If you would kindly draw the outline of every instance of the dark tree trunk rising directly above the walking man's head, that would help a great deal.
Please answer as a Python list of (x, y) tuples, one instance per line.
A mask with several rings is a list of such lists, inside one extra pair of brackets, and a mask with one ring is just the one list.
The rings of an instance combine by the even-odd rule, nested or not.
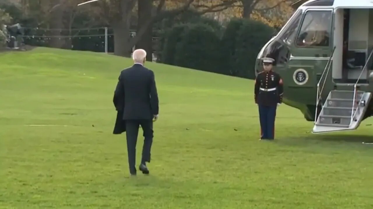
[[(137, 31), (146, 25), (151, 16), (153, 0), (138, 1), (138, 21)], [(153, 61), (153, 24), (149, 24), (146, 32), (141, 36), (136, 44), (136, 49), (144, 49), (147, 52), (146, 60)]]

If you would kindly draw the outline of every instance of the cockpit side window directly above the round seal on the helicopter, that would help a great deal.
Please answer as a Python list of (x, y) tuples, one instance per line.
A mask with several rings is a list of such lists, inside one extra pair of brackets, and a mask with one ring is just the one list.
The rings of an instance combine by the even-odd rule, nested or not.
[(329, 46), (331, 28), (331, 11), (308, 11), (296, 43), (298, 46)]

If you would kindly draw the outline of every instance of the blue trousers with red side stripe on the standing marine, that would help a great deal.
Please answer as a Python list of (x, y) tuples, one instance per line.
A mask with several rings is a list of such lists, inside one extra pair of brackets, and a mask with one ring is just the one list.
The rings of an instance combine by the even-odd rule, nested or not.
[(275, 119), (277, 105), (259, 106), (260, 134), (261, 139), (275, 138)]

